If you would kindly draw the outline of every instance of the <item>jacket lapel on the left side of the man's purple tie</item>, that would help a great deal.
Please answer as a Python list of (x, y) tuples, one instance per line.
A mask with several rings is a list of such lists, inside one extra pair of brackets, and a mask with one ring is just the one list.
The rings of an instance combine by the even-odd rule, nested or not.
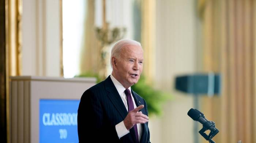
[(104, 81), (105, 82), (105, 90), (109, 92), (107, 95), (110, 101), (113, 103), (116, 110), (122, 116), (123, 119), (127, 116), (128, 112), (124, 106), (123, 100), (121, 99), (120, 95), (118, 94), (114, 83), (112, 82), (110, 76)]

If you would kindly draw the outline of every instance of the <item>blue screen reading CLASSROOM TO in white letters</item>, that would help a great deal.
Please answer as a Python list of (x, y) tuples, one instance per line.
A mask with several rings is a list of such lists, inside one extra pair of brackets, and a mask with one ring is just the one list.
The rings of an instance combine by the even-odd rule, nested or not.
[(39, 100), (40, 143), (78, 143), (79, 102), (80, 100)]

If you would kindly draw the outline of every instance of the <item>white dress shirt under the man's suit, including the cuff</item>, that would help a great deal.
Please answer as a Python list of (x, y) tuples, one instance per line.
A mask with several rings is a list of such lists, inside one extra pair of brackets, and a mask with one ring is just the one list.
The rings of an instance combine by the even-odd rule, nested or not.
[[(120, 82), (118, 82), (118, 80), (116, 80), (116, 78), (114, 78), (114, 76), (112, 74), (110, 75), (110, 78), (111, 78), (112, 82), (114, 83), (114, 86), (116, 87), (116, 89), (118, 91), (118, 94), (120, 95), (121, 99), (123, 100), (126, 110), (128, 111), (127, 96), (124, 93), (124, 91), (125, 91), (124, 86)], [(131, 91), (131, 87), (129, 87), (128, 89)], [(133, 101), (134, 108), (136, 108), (137, 106), (135, 104), (133, 96), (132, 96), (132, 101)], [(139, 141), (140, 141), (141, 134), (142, 134), (142, 125), (140, 123), (138, 123), (137, 128), (138, 128), (138, 136), (139, 136)], [(116, 132), (117, 132), (119, 139), (122, 136), (129, 133), (129, 131), (126, 129), (126, 127), (124, 125), (124, 121), (116, 124)]]

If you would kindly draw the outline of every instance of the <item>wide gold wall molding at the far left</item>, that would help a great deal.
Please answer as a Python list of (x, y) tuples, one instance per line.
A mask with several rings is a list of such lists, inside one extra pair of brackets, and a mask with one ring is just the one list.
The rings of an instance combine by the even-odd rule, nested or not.
[(10, 141), (9, 123), (9, 76), (18, 76), (22, 73), (21, 48), (22, 48), (22, 0), (5, 0), (5, 31), (6, 31), (6, 118), (7, 118), (7, 143)]

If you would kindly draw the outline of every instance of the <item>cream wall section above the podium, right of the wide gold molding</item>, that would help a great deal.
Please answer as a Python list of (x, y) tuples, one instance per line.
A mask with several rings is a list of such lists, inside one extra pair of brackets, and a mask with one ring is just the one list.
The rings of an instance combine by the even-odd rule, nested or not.
[(60, 76), (60, 0), (23, 0), (22, 75)]

